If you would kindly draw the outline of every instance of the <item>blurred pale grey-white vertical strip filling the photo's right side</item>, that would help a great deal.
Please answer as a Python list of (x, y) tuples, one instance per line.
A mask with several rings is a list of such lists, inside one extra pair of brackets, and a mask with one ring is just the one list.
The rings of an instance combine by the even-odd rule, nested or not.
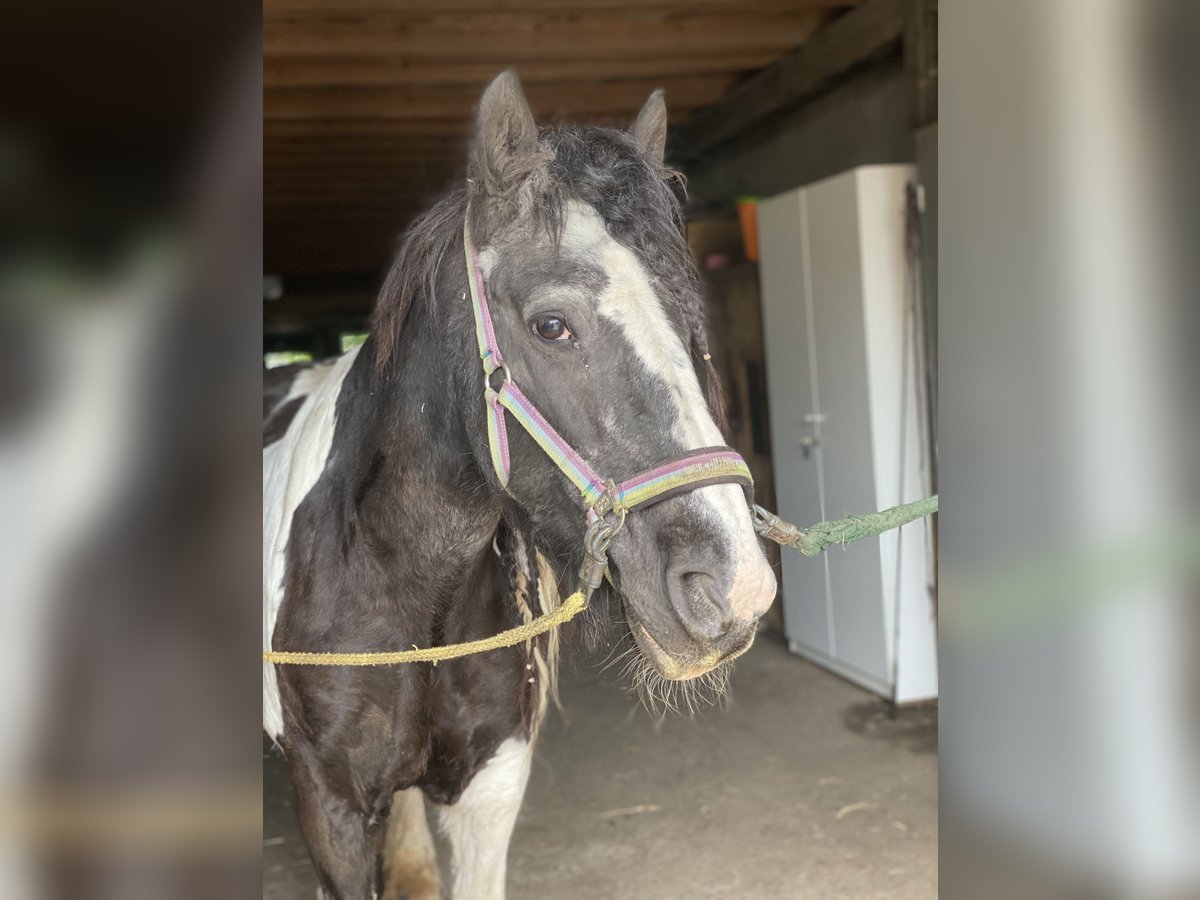
[(1196, 4), (946, 4), (942, 889), (1200, 890)]

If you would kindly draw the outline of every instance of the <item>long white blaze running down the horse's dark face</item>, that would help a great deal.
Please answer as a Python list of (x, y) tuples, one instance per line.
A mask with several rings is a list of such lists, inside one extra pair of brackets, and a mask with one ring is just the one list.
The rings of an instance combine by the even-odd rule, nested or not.
[[(725, 444), (688, 349), (654, 292), (654, 280), (634, 252), (608, 234), (592, 206), (578, 202), (569, 205), (563, 247), (596, 259), (608, 276), (598, 312), (622, 329), (642, 364), (671, 391), (674, 438), (688, 450)], [(691, 496), (708, 506), (709, 517), (733, 544), (736, 570), (730, 600), (734, 613), (742, 619), (762, 614), (774, 599), (775, 576), (758, 546), (742, 488), (710, 485)]]

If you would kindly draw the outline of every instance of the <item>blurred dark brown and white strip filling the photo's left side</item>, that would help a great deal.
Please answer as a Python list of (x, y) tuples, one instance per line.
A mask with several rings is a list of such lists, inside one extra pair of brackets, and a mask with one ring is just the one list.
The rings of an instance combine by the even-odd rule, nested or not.
[(7, 8), (0, 893), (259, 895), (257, 8)]

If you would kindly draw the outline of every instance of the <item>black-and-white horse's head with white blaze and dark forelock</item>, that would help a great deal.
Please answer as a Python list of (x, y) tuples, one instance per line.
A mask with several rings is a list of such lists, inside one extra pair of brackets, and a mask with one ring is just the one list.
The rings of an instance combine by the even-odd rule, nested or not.
[[(578, 485), (556, 464), (553, 442), (539, 443), (511, 419), (498, 470), (494, 430), (505, 427), (505, 413), (481, 400), (485, 388), (494, 400), (503, 382), (520, 385), (568, 452), (614, 482), (724, 444), (679, 176), (664, 164), (665, 143), (660, 92), (629, 131), (539, 130), (511, 73), (487, 88), (479, 108), (461, 270), (476, 270), (503, 366), (487, 376), (480, 368), (475, 350), (485, 362), (490, 350), (484, 337), (476, 348), (463, 282), (451, 304), (439, 301), (446, 378), (505, 516), (550, 559), (572, 566), (565, 577), (582, 558), (587, 527)], [(672, 682), (748, 649), (775, 595), (736, 484), (689, 486), (634, 509), (608, 559), (641, 659)]]

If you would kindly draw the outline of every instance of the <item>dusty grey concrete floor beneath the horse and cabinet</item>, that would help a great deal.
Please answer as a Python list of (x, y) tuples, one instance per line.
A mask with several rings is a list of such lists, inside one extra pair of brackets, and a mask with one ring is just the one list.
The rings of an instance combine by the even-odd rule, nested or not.
[[(937, 713), (760, 635), (727, 709), (655, 724), (564, 665), (509, 854), (510, 900), (937, 896)], [(286, 762), (264, 758), (266, 900), (314, 896)], [(443, 854), (445, 856), (445, 854)]]

